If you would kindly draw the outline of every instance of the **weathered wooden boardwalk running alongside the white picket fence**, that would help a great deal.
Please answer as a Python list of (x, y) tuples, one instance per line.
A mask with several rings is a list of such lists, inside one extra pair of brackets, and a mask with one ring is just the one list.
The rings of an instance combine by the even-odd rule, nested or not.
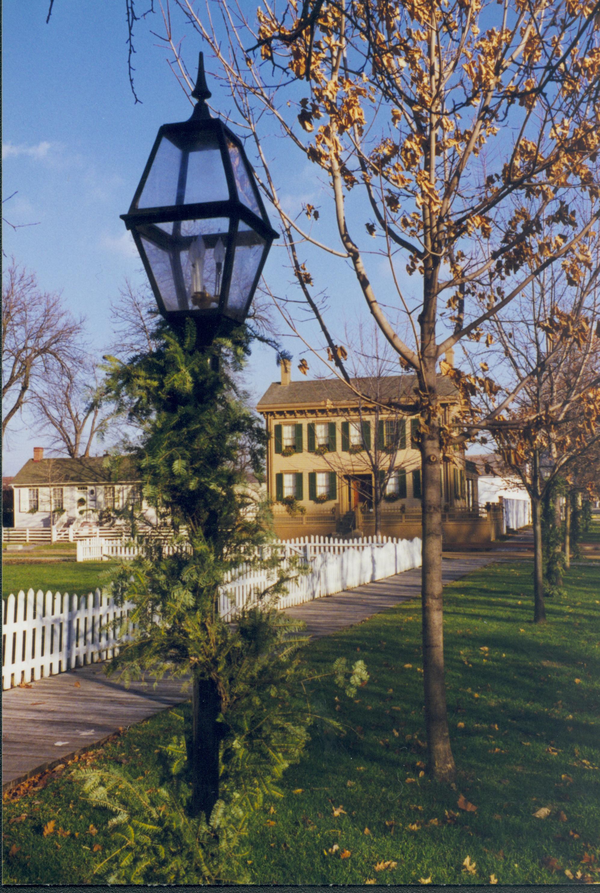
[[(444, 582), (458, 580), (498, 558), (504, 556), (449, 555), (443, 561)], [(421, 568), (415, 568), (296, 605), (286, 613), (304, 620), (307, 632), (317, 638), (420, 595)], [(181, 684), (181, 680), (162, 680), (154, 689), (152, 682), (146, 686), (133, 682), (125, 689), (123, 683), (104, 675), (102, 663), (92, 663), (33, 682), (30, 689), (4, 691), (3, 789), (97, 746), (120, 727), (187, 700)]]

